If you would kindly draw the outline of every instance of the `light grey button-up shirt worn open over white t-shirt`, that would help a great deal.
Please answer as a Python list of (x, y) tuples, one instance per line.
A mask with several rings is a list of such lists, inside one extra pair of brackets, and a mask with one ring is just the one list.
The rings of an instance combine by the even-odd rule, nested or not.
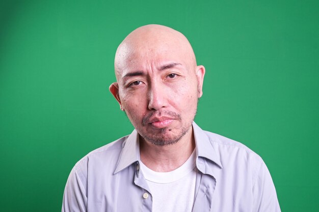
[[(257, 154), (194, 122), (193, 130), (198, 169), (194, 212), (280, 211), (270, 173)], [(152, 211), (152, 194), (139, 163), (136, 130), (89, 153), (69, 175), (62, 212)]]

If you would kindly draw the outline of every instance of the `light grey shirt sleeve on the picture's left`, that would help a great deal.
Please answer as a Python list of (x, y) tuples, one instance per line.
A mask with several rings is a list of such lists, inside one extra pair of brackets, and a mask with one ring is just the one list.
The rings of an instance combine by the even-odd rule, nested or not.
[(62, 203), (62, 212), (86, 212), (87, 195), (82, 180), (75, 168), (67, 180)]

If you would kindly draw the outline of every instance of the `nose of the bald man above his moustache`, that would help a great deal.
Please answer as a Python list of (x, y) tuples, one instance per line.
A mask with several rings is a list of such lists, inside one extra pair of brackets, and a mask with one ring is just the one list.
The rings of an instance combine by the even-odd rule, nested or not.
[(148, 90), (148, 109), (159, 110), (167, 106), (167, 94), (160, 83), (152, 83)]

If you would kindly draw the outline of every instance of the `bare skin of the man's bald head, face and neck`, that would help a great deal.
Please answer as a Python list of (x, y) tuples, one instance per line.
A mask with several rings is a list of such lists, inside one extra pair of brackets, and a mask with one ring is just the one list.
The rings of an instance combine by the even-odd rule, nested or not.
[(187, 38), (172, 28), (142, 26), (119, 45), (110, 92), (140, 134), (141, 160), (150, 169), (172, 171), (192, 154), (204, 74)]

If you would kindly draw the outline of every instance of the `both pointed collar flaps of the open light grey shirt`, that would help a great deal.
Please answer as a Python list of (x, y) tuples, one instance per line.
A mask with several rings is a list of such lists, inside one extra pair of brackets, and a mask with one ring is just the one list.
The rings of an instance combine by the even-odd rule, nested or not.
[[(195, 122), (193, 122), (192, 126), (197, 149), (197, 158), (201, 157), (208, 159), (222, 168), (219, 155), (217, 155), (214, 147), (211, 145), (206, 133), (198, 127)], [(122, 144), (122, 152), (114, 174), (137, 161), (140, 161), (139, 134), (136, 130), (134, 130)]]

